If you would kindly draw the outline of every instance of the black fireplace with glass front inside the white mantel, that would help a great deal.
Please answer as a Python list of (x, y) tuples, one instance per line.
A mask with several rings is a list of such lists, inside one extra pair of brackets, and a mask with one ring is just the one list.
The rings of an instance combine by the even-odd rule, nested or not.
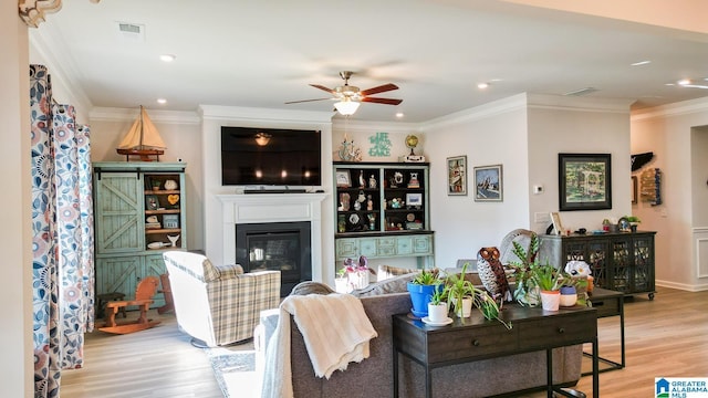
[(280, 271), (280, 296), (312, 280), (310, 221), (236, 226), (236, 263), (246, 272)]

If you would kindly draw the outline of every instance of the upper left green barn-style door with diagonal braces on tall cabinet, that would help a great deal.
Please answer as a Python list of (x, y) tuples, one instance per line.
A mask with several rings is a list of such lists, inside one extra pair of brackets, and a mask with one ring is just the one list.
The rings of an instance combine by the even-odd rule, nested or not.
[(103, 172), (94, 178), (96, 253), (145, 248), (143, 181), (136, 172)]

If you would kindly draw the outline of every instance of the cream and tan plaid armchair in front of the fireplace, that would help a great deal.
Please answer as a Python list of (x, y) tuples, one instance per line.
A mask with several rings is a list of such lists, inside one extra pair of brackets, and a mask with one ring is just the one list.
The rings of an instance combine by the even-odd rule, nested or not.
[[(179, 328), (209, 347), (253, 337), (260, 312), (280, 304), (280, 271), (243, 273), (185, 251), (163, 253)], [(196, 339), (196, 342), (195, 342)]]

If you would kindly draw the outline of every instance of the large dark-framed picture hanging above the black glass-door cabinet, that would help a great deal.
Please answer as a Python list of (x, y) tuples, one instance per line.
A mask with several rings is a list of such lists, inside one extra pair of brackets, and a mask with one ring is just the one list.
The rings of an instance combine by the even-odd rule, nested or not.
[(559, 208), (612, 209), (610, 154), (558, 154)]

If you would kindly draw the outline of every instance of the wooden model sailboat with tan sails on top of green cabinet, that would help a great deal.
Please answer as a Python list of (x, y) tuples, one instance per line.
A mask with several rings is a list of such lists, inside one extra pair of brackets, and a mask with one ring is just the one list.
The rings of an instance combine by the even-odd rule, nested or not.
[(165, 153), (165, 143), (157, 128), (147, 116), (145, 107), (140, 105), (140, 114), (116, 148), (116, 151), (125, 155), (125, 160), (128, 160), (129, 156), (139, 156), (143, 161), (152, 161), (150, 156), (155, 156), (159, 161), (159, 156)]

